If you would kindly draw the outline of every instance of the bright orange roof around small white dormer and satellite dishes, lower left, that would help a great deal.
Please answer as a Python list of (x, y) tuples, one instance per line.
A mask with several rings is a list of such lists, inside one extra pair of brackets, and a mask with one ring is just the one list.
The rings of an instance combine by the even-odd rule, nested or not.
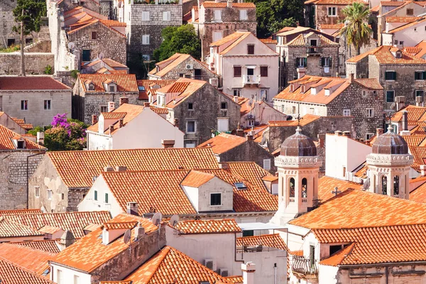
[[(145, 229), (146, 234), (158, 229), (158, 227), (148, 219), (130, 214), (119, 214), (114, 217), (111, 222), (139, 222)], [(99, 238), (101, 234), (102, 229), (99, 228), (83, 236), (82, 239), (75, 244), (68, 246), (67, 249), (61, 251), (52, 258), (52, 262), (91, 273), (111, 258), (114, 258), (114, 256), (125, 250), (129, 250), (129, 245), (124, 243), (123, 236), (119, 236), (119, 238), (115, 239), (110, 244), (104, 245), (102, 244), (102, 238)], [(132, 229), (131, 239), (133, 239), (134, 236), (135, 229)], [(87, 251), (90, 253), (87, 253)]]

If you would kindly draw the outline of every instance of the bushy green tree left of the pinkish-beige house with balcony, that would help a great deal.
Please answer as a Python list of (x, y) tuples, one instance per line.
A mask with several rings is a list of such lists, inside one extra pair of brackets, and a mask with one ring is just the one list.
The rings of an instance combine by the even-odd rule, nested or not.
[(153, 53), (157, 62), (170, 58), (175, 53), (190, 54), (200, 59), (201, 41), (195, 33), (194, 26), (169, 26), (163, 28), (161, 35), (164, 38), (163, 43)]

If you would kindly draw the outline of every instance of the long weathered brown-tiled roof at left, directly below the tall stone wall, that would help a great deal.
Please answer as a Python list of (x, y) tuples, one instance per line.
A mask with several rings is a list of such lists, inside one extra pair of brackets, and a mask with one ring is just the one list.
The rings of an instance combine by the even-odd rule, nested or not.
[(71, 231), (75, 238), (84, 236), (83, 228), (87, 224), (103, 224), (111, 219), (111, 215), (107, 211), (14, 214), (4, 215), (3, 217), (35, 230), (46, 225), (59, 227), (64, 231)]

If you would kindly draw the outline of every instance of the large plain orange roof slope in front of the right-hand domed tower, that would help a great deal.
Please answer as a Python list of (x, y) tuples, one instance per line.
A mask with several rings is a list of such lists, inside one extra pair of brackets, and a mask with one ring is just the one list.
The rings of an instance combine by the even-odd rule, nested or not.
[(426, 204), (349, 189), (289, 223), (308, 229), (426, 224)]

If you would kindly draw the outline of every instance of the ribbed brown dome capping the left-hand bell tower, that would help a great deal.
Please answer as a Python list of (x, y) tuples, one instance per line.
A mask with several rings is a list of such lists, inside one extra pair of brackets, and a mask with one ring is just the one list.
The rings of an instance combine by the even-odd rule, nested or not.
[(308, 136), (300, 133), (302, 129), (297, 127), (296, 133), (285, 139), (281, 144), (280, 155), (295, 157), (312, 157), (317, 155), (317, 147), (314, 141)]

